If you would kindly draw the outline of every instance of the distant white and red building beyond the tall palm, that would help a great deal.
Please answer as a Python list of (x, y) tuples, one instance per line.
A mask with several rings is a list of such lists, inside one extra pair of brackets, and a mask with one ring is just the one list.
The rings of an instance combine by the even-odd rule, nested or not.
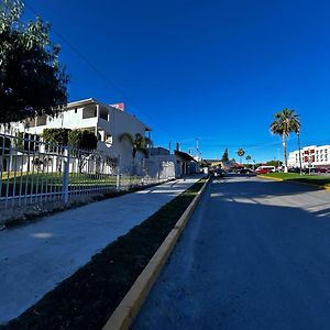
[[(330, 145), (309, 145), (300, 150), (301, 167), (330, 168)], [(299, 151), (289, 153), (288, 167), (300, 167)]]

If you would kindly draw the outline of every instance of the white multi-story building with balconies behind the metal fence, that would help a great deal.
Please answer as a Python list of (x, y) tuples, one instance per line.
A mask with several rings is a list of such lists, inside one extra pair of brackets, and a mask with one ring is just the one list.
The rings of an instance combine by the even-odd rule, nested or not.
[[(80, 129), (89, 130), (98, 138), (97, 150), (112, 160), (117, 160), (121, 166), (132, 166), (132, 145), (123, 140), (122, 133), (136, 133), (151, 139), (151, 129), (133, 114), (124, 111), (122, 103), (105, 105), (96, 99), (86, 99), (68, 103), (56, 117), (41, 116), (21, 122), (11, 123), (4, 133), (15, 135), (18, 132), (42, 135), (44, 129)], [(2, 128), (3, 131), (4, 128)], [(18, 158), (19, 154), (16, 155)], [(142, 155), (136, 155), (139, 157)], [(11, 168), (14, 163), (10, 162)]]

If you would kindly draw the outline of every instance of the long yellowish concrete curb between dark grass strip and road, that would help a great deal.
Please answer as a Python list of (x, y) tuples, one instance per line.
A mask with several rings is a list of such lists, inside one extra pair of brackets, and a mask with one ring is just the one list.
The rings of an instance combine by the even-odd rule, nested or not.
[(209, 180), (210, 178), (207, 179), (205, 185), (198, 191), (197, 196), (176, 222), (174, 229), (169, 232), (165, 241), (150, 260), (128, 294), (116, 308), (102, 330), (124, 330), (130, 328), (144, 300), (146, 299), (153, 284), (157, 279), (158, 274), (163, 270), (168, 256), (170, 255), (170, 252), (173, 251), (178, 238), (184, 231), (190, 216), (197, 207), (197, 204), (199, 202)]

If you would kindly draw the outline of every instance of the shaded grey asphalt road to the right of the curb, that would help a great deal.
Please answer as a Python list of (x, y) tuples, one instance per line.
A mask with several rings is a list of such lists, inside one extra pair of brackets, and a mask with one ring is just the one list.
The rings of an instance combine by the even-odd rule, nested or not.
[(330, 329), (330, 193), (215, 179), (133, 329)]

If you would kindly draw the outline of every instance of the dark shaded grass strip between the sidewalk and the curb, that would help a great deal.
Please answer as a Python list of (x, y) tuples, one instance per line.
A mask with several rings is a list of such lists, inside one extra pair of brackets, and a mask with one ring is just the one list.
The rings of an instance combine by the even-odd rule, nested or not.
[(100, 330), (201, 189), (196, 183), (0, 329)]

